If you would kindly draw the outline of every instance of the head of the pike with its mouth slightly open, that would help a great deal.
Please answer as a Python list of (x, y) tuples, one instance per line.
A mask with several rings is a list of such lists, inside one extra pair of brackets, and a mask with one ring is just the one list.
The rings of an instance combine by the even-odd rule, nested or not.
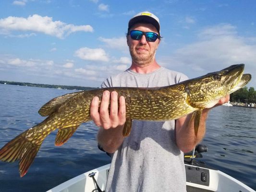
[(192, 79), (185, 87), (187, 103), (194, 108), (211, 108), (219, 99), (242, 88), (251, 80), (244, 73), (244, 64), (232, 65)]

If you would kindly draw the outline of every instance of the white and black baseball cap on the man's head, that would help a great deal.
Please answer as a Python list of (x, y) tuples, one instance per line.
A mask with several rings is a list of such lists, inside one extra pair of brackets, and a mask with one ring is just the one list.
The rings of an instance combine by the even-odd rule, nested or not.
[(134, 24), (140, 23), (140, 22), (146, 22), (146, 23), (153, 24), (157, 28), (158, 33), (160, 35), (159, 19), (156, 15), (154, 15), (151, 12), (139, 12), (138, 14), (134, 15), (134, 17), (132, 19), (130, 19), (130, 21), (128, 23), (128, 31)]

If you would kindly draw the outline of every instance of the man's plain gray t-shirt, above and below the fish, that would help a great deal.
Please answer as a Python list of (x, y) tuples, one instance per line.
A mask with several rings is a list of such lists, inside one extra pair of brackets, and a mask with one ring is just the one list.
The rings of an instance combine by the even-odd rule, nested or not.
[[(102, 87), (160, 87), (187, 80), (160, 67), (151, 73), (126, 70)], [(106, 192), (186, 192), (183, 152), (175, 142), (175, 121), (133, 120), (131, 134), (112, 156)]]

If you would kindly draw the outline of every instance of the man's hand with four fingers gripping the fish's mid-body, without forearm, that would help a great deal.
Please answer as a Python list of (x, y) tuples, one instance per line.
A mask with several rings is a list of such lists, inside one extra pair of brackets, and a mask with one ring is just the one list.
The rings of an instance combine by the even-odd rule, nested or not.
[[(110, 105), (110, 111), (109, 111)], [(110, 128), (116, 128), (118, 126), (123, 126), (125, 123), (125, 99), (123, 96), (119, 98), (119, 108), (118, 108), (118, 94), (113, 91), (104, 91), (102, 99), (99, 106), (99, 98), (96, 96), (93, 98), (90, 107), (90, 115), (92, 120), (97, 126), (101, 126), (108, 130)]]

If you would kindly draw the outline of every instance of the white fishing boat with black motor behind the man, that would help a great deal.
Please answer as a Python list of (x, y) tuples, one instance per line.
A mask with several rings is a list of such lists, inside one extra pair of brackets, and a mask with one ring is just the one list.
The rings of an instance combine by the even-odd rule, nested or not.
[[(187, 192), (256, 192), (230, 175), (196, 160), (206, 151), (207, 147), (199, 144), (193, 152), (184, 154)], [(87, 171), (47, 192), (104, 192), (109, 169), (110, 164)]]

